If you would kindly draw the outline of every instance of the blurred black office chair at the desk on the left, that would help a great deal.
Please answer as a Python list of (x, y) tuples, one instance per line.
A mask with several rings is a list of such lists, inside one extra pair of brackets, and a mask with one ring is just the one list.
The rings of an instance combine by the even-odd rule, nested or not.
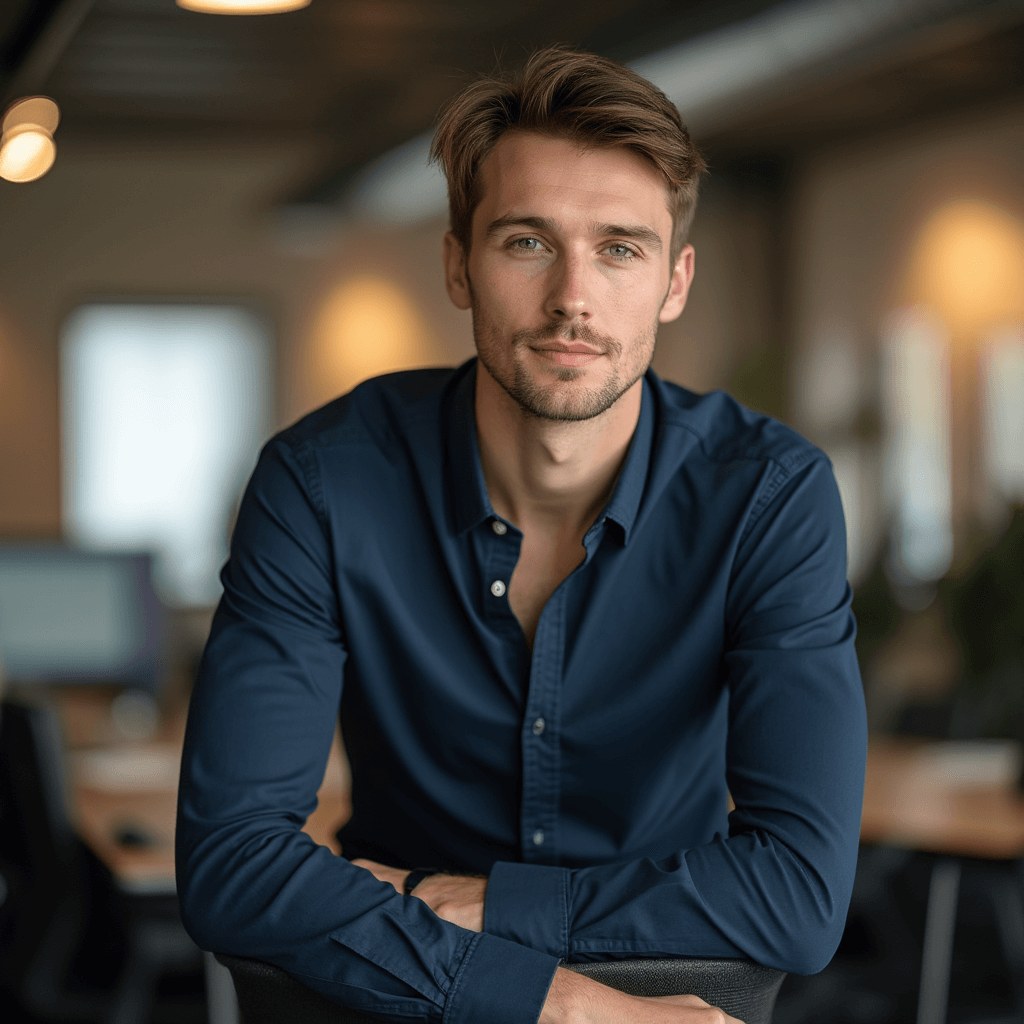
[[(63, 742), (53, 711), (0, 707), (0, 858), (19, 874), (6, 914), (0, 973), (22, 1007), (42, 1020), (150, 1018), (159, 975), (202, 969), (173, 896), (118, 891), (75, 834), (65, 791)], [(74, 967), (97, 916), (110, 914), (101, 959), (123, 959), (106, 990), (76, 983)], [(120, 920), (119, 920), (120, 919)], [(125, 953), (127, 947), (127, 955)], [(97, 950), (86, 949), (95, 954)]]

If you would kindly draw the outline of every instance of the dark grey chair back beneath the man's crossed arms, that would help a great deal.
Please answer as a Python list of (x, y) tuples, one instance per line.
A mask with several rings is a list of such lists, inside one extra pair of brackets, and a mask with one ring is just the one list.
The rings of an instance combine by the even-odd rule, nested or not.
[[(296, 981), (281, 968), (243, 956), (216, 954), (231, 972), (241, 1024), (380, 1024)], [(631, 995), (690, 993), (743, 1024), (770, 1024), (785, 974), (740, 959), (634, 959), (562, 964)]]

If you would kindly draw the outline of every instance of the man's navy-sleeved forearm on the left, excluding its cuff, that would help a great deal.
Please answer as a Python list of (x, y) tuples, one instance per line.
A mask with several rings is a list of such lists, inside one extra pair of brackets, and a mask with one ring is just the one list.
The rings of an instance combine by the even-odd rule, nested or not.
[[(421, 1020), (440, 1012), (442, 979), (458, 973), (467, 933), (317, 847), (294, 822), (222, 825), (199, 842), (187, 809), (181, 822), (181, 913), (201, 947), (275, 964), (367, 1012)], [(385, 950), (387, 962), (375, 962)]]

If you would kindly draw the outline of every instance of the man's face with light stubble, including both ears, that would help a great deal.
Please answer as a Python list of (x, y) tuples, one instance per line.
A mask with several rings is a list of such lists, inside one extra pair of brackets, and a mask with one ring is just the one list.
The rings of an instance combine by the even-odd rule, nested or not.
[(473, 310), (480, 362), (534, 416), (598, 416), (686, 301), (693, 250), (670, 266), (665, 181), (629, 150), (525, 132), (503, 136), (480, 173), (469, 258), (445, 238), (449, 294)]

